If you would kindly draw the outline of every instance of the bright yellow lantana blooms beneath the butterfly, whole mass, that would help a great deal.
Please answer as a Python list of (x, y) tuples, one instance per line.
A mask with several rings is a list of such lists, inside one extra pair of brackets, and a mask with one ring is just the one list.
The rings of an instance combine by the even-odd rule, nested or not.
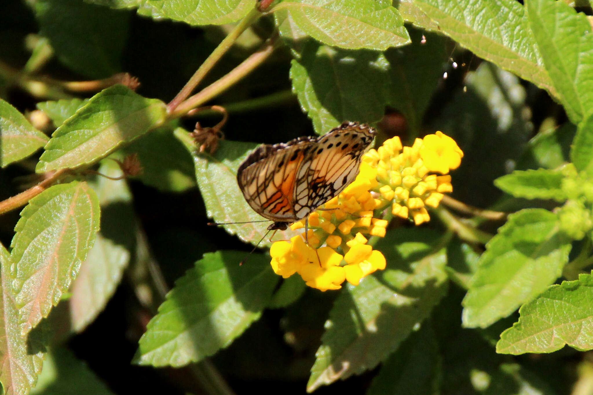
[[(411, 147), (402, 147), (394, 137), (369, 150), (356, 179), (309, 215), (306, 237), (303, 233), (272, 244), (274, 272), (283, 278), (299, 273), (308, 286), (326, 291), (341, 288), (344, 281), (358, 285), (385, 269), (385, 257), (363, 234), (384, 237), (388, 221), (379, 217), (390, 204), (393, 215), (416, 225), (429, 221), (426, 206), (436, 208), (443, 193), (451, 192), (451, 176), (445, 174), (457, 168), (462, 157), (457, 143), (441, 132), (416, 139)], [(291, 228), (304, 226), (303, 219)]]

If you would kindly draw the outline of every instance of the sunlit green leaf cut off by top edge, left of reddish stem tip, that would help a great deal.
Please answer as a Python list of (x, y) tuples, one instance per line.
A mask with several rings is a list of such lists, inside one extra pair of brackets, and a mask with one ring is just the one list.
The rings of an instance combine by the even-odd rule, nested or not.
[(256, 0), (146, 0), (140, 15), (169, 18), (190, 25), (222, 25), (240, 20), (256, 5)]

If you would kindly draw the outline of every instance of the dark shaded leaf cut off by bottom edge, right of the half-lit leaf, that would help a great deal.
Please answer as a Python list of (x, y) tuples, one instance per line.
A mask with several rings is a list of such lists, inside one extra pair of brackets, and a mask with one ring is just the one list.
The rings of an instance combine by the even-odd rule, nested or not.
[(438, 393), (440, 374), (441, 355), (434, 330), (423, 324), (383, 362), (366, 395), (433, 395)]

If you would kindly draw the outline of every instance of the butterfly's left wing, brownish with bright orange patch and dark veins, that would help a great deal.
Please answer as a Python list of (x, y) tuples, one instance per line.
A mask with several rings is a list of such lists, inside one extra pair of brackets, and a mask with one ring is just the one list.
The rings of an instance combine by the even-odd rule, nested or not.
[(294, 211), (298, 169), (315, 138), (298, 138), (286, 144), (262, 145), (237, 171), (237, 183), (247, 203), (260, 215), (275, 222), (297, 221)]

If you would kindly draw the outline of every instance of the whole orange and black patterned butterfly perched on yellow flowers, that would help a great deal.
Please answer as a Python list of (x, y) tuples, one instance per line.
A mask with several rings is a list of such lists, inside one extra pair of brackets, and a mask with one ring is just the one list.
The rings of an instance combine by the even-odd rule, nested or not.
[(376, 134), (344, 122), (323, 136), (260, 145), (239, 166), (237, 183), (251, 208), (274, 221), (268, 231), (286, 230), (354, 181)]

